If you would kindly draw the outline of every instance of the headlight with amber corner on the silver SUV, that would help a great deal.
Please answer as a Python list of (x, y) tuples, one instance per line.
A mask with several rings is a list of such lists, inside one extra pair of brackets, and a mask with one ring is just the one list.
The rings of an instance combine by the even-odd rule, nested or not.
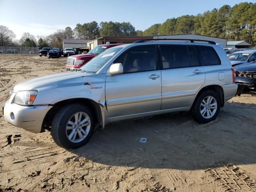
[(32, 105), (34, 102), (38, 91), (31, 90), (31, 91), (18, 91), (14, 98), (14, 103), (19, 105)]

